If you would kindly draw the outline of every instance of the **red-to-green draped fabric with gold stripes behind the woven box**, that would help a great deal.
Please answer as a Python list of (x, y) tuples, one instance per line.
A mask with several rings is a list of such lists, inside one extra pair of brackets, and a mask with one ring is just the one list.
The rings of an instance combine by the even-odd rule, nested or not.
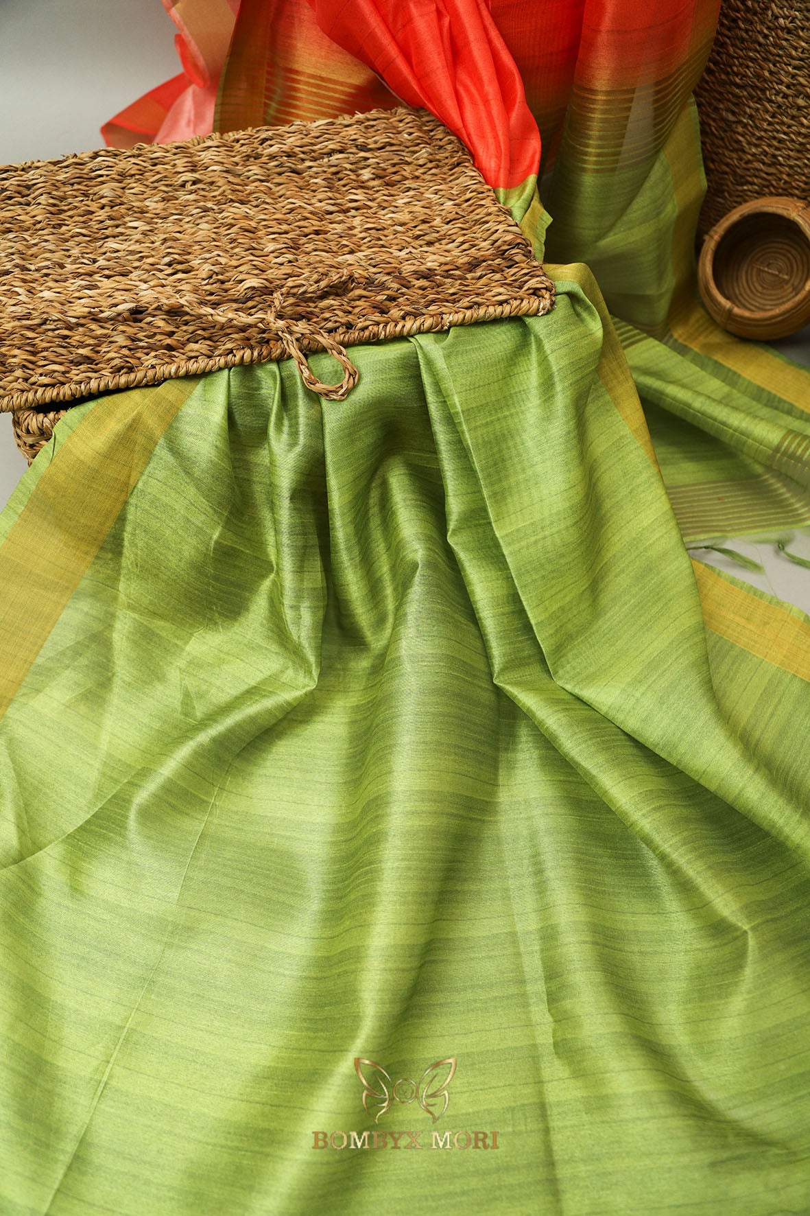
[(809, 373), (724, 333), (697, 298), (705, 184), (691, 92), (718, 0), (186, 0), (186, 26), (167, 7), (182, 62), (201, 58), (202, 28), (212, 71), (178, 78), (187, 88), (168, 114), (158, 95), (175, 81), (124, 125), (181, 139), (398, 98), (426, 106), (467, 142), (541, 255), (594, 272), (685, 539), (810, 523), (806, 457), (794, 457), (810, 438)]

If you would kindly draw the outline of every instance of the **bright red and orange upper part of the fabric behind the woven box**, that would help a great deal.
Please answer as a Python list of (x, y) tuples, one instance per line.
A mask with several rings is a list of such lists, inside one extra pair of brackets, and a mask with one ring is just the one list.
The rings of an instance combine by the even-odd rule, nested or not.
[[(719, 0), (164, 0), (184, 73), (103, 129), (185, 139), (424, 106), (495, 187), (561, 146), (611, 163), (640, 94), (660, 146), (698, 78)], [(220, 64), (224, 63), (224, 67)], [(201, 66), (202, 64), (202, 66)], [(541, 143), (542, 140), (542, 143)], [(601, 148), (601, 150), (600, 150)]]

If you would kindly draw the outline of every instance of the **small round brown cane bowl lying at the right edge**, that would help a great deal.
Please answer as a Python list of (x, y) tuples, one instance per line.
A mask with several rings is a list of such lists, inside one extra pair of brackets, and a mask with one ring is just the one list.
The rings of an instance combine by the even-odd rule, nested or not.
[(784, 338), (810, 321), (810, 206), (759, 198), (711, 229), (698, 260), (703, 303), (742, 338)]

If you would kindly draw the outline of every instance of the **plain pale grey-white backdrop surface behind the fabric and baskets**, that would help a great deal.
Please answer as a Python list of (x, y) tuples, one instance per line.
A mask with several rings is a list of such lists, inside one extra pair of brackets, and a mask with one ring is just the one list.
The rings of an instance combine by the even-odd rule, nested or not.
[[(0, 163), (101, 147), (103, 122), (180, 71), (174, 33), (161, 0), (0, 0)], [(810, 327), (775, 345), (810, 365)], [(27, 468), (11, 417), (0, 413), (0, 507)], [(694, 556), (810, 612), (810, 570), (771, 544), (722, 544), (765, 573), (719, 553)], [(788, 547), (810, 558), (810, 531)]]

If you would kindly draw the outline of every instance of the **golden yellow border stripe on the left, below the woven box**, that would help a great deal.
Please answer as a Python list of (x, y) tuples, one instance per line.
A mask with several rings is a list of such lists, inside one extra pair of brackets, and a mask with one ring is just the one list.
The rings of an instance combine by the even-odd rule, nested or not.
[(102, 398), (40, 475), (0, 546), (0, 717), (198, 383)]

